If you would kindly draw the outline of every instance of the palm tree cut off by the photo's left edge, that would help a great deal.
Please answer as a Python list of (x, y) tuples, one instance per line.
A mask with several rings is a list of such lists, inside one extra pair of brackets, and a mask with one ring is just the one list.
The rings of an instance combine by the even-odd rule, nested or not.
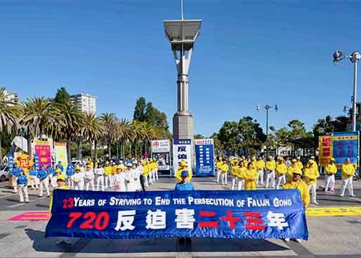
[[(17, 128), (18, 119), (22, 115), (22, 108), (17, 105), (10, 94), (6, 93), (5, 88), (0, 88), (0, 132), (7, 130), (8, 133)], [(0, 138), (0, 163), (3, 160), (1, 152), (1, 138)]]

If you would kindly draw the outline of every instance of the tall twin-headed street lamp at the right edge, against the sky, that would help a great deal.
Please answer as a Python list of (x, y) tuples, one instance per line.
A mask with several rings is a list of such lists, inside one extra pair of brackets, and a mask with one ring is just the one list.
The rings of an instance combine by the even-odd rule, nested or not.
[(345, 57), (350, 59), (353, 63), (353, 98), (352, 98), (352, 106), (353, 106), (353, 117), (352, 117), (352, 126), (353, 131), (356, 131), (356, 94), (358, 89), (358, 61), (361, 59), (361, 54), (359, 52), (353, 52), (351, 56), (345, 56), (342, 52), (336, 51), (332, 55), (335, 64), (338, 64)]

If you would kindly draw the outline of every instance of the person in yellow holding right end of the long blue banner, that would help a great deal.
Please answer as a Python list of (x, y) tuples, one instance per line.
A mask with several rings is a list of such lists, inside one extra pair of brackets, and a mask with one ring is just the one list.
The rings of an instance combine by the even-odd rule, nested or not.
[[(288, 182), (288, 183), (285, 183), (283, 185), (283, 189), (285, 189), (285, 190), (288, 190), (288, 189), (297, 189), (297, 190), (299, 190), (302, 202), (304, 204), (304, 209), (306, 210), (306, 208), (310, 204), (310, 192), (309, 192), (309, 189), (307, 188), (306, 183), (304, 183), (304, 181), (302, 181), (301, 176), (302, 176), (302, 171), (301, 171), (301, 169), (299, 169), (297, 167), (297, 169), (295, 169), (294, 172), (292, 173), (291, 181)], [(285, 241), (286, 242), (290, 241), (290, 238), (285, 238)], [(301, 242), (300, 239), (296, 239), (296, 241)]]

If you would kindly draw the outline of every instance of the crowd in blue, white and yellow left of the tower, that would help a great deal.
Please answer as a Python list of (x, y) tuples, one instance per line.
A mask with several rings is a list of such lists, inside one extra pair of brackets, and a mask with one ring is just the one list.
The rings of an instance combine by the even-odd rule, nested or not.
[(119, 192), (145, 191), (150, 185), (158, 181), (157, 160), (107, 160), (105, 162), (88, 160), (85, 165), (74, 166), (69, 163), (63, 167), (62, 162), (57, 165), (41, 165), (38, 169), (28, 167), (29, 172), (14, 163), (11, 169), (14, 192), (19, 193), (20, 202), (29, 202), (28, 188), (39, 191), (43, 197), (46, 192), (50, 197), (50, 189), (59, 186), (58, 181), (67, 183), (71, 190), (115, 190)]

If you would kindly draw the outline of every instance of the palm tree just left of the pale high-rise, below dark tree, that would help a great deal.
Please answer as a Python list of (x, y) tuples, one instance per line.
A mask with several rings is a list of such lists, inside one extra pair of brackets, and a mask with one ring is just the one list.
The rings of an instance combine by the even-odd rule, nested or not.
[(57, 134), (66, 138), (68, 162), (71, 162), (71, 140), (76, 139), (80, 128), (83, 127), (85, 114), (78, 105), (74, 105), (70, 100), (65, 103), (57, 103), (55, 106), (62, 113), (62, 124), (59, 125)]

